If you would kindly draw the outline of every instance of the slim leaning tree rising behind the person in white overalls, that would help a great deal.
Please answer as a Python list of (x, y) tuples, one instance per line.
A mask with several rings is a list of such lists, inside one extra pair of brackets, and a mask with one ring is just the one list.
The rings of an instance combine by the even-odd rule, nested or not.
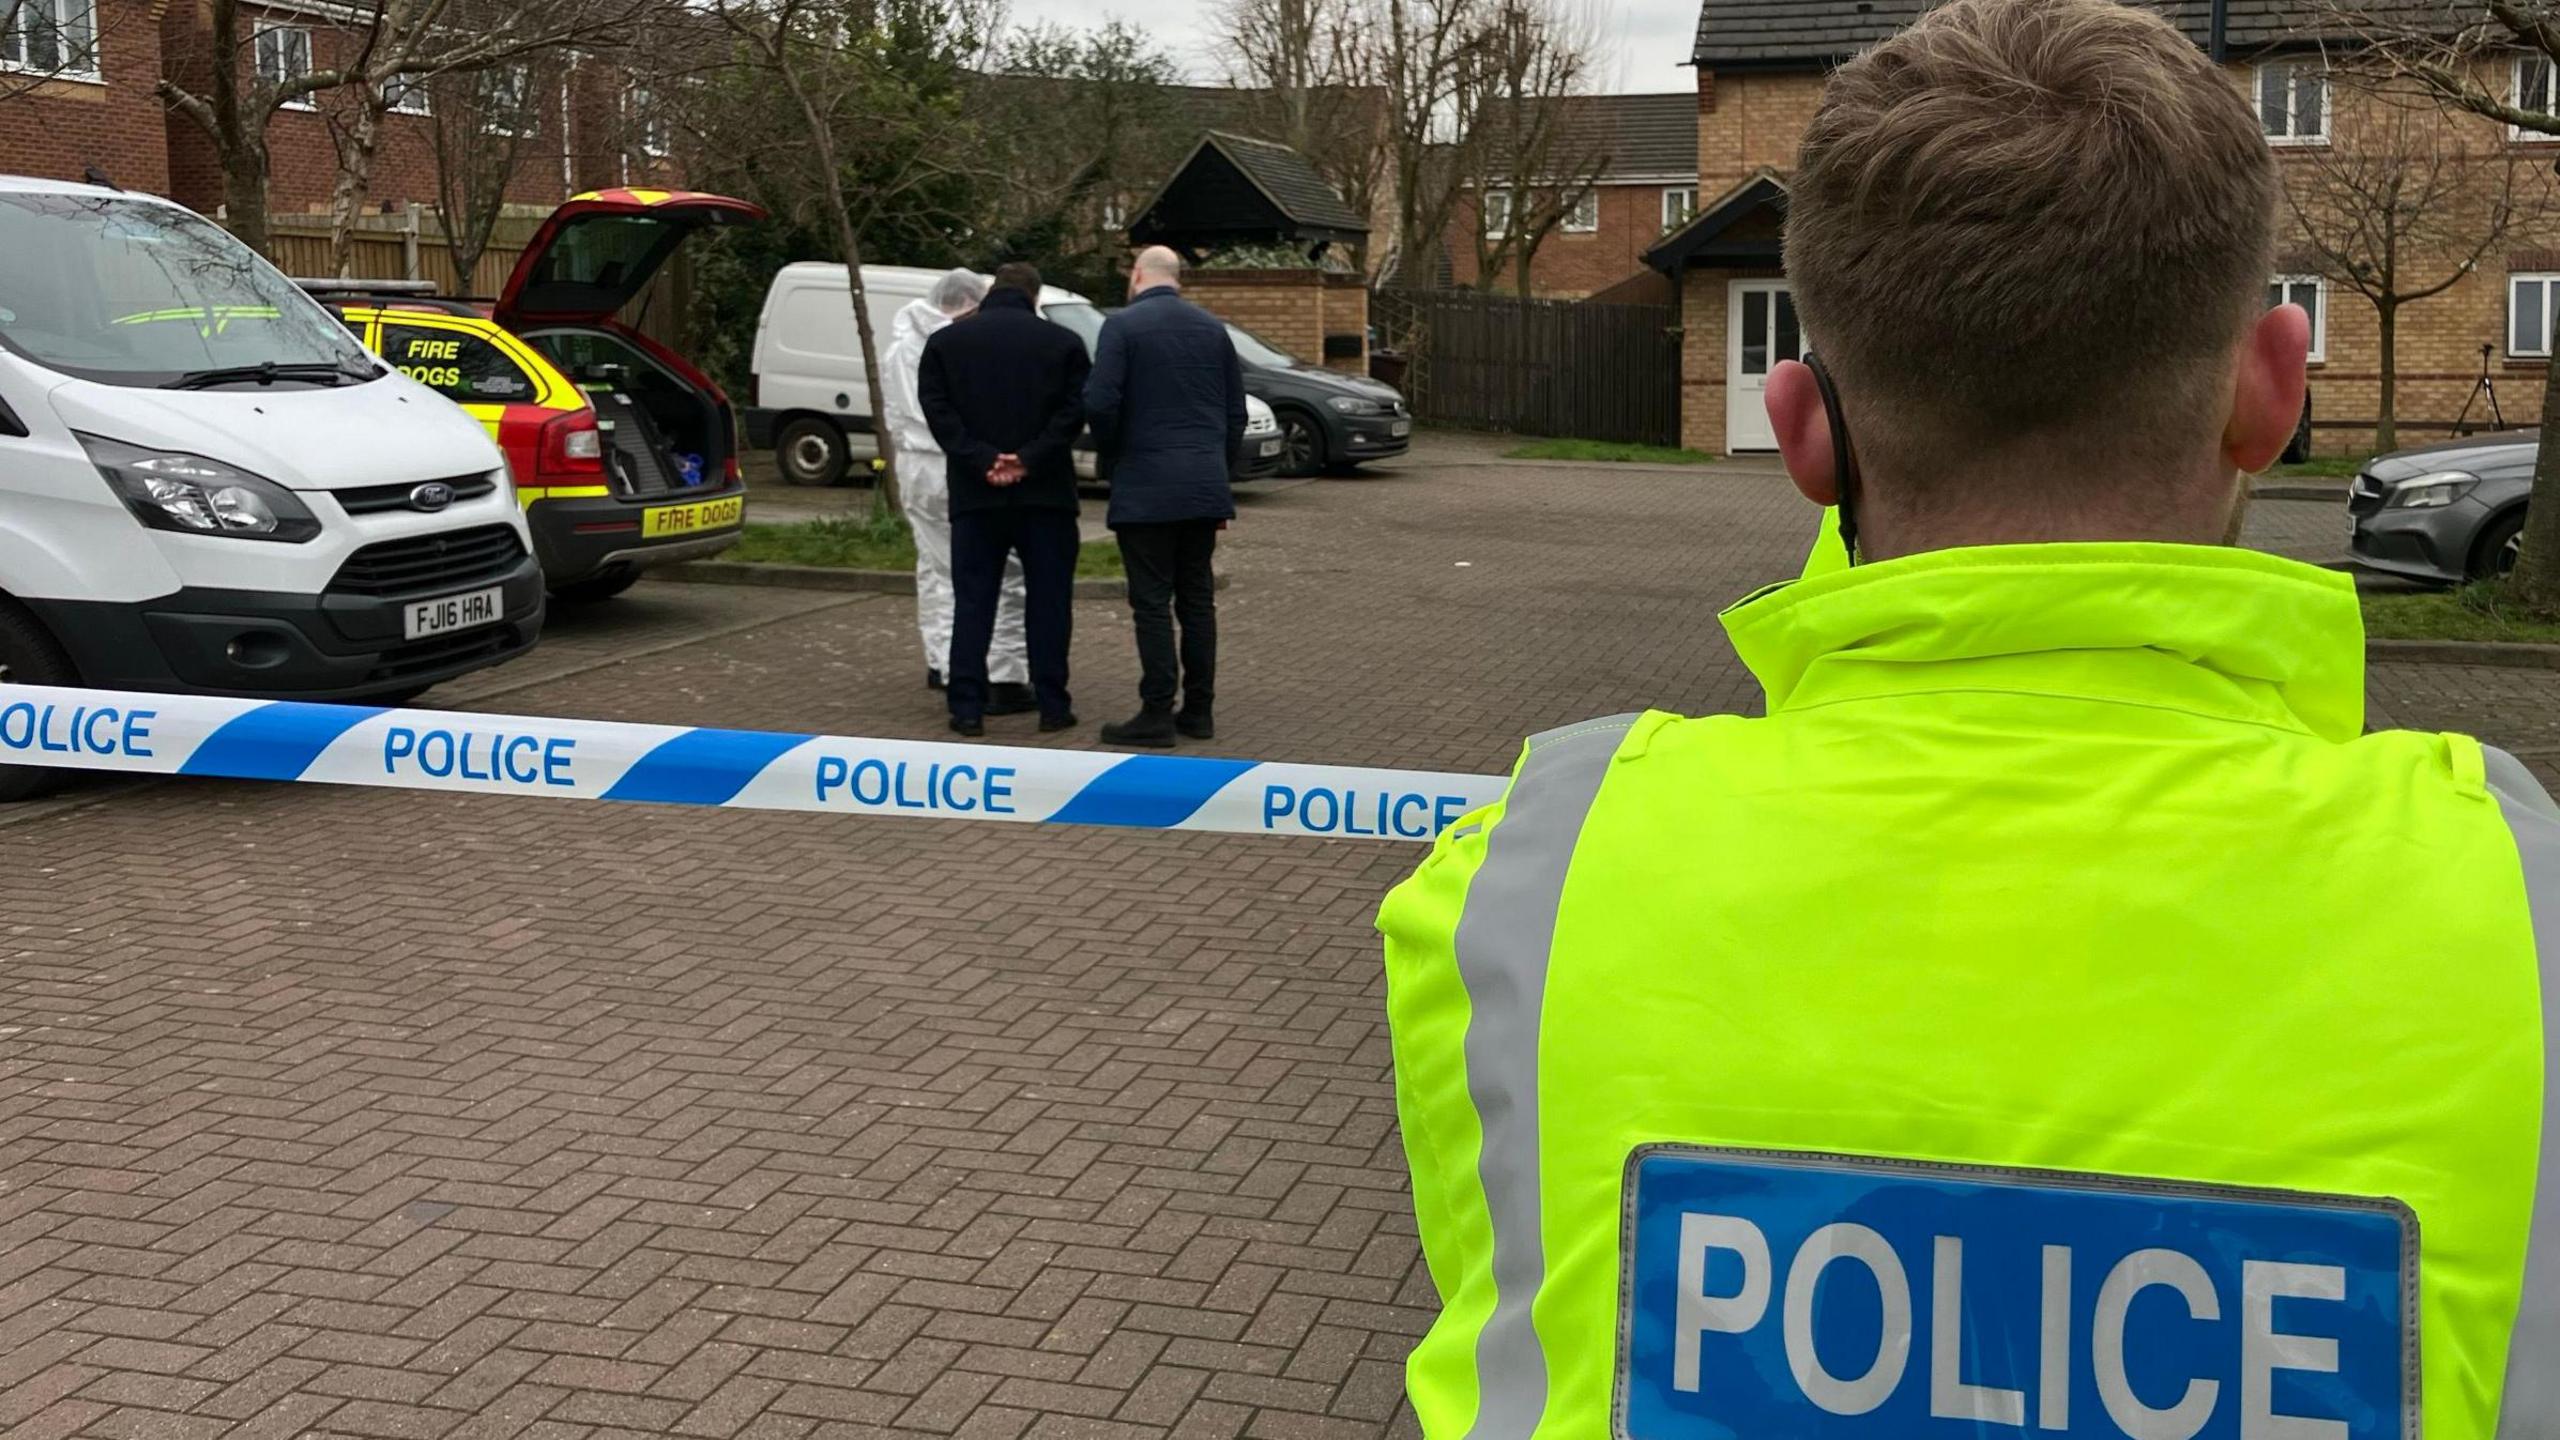
[(952, 143), (957, 92), (947, 82), (986, 59), (1001, 8), (993, 0), (707, 0), (707, 10), (735, 41), (740, 79), (771, 85), (796, 120), (781, 136), (768, 126), (748, 138), (786, 146), (776, 156), (781, 169), (799, 179), (806, 210), (845, 259), (870, 433), (886, 461), (873, 489), (873, 512), (883, 512), (896, 505), (896, 441), (883, 420), (881, 338), (863, 295), (863, 231), (968, 164), (965, 146)]

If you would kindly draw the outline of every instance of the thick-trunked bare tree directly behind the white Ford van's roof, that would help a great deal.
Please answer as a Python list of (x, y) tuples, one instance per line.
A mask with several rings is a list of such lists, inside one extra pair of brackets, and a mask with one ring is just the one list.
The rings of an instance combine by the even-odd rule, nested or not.
[[(381, 118), (404, 85), (599, 44), (630, 26), (643, 5), (645, 0), (358, 0), (315, 28), (261, 33), (246, 23), (256, 15), (253, 0), (205, 0), (205, 90), (161, 77), (159, 95), (212, 138), (223, 167), (225, 218), (253, 249), (266, 249), (269, 238), (269, 123), (284, 105), (338, 95), (346, 115), (330, 210), (343, 264), (346, 228), (371, 190)], [(333, 64), (317, 64), (312, 54), (320, 33), (343, 51)]]

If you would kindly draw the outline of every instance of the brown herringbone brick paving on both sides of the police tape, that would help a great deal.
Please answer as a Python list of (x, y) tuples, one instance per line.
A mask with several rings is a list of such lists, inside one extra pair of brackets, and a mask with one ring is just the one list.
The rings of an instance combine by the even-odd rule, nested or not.
[[(1267, 495), (1219, 748), (1748, 710), (1713, 615), (1807, 533), (1743, 471)], [(632, 600), (438, 700), (940, 733), (904, 600)], [(689, 615), (735, 623), (602, 664)], [(1134, 661), (1078, 628), (1091, 743)], [(2373, 682), (2542, 753), (2555, 687)], [(1370, 915), (1413, 858), (212, 781), (5, 825), (0, 1435), (1411, 1435)]]

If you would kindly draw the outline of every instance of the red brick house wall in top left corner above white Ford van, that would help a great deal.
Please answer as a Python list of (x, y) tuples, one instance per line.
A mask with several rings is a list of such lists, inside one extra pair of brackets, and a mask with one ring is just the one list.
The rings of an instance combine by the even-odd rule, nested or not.
[(151, 10), (151, 0), (100, 0), (97, 79), (0, 74), (0, 174), (79, 179), (95, 164), (131, 190), (169, 187)]

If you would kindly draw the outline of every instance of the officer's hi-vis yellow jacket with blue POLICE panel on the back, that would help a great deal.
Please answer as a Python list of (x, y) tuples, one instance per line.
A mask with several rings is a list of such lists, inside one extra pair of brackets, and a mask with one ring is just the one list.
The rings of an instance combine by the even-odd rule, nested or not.
[(1815, 564), (1385, 904), (1426, 1435), (2560, 1435), (2532, 774), (2312, 566)]

